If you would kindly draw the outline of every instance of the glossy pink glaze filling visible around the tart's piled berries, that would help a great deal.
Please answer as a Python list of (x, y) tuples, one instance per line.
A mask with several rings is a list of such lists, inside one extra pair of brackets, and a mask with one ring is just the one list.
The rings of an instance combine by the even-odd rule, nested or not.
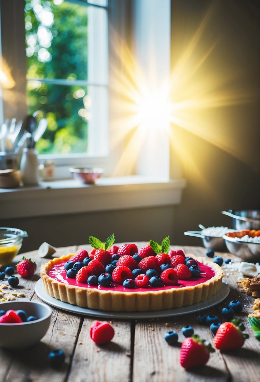
[(53, 266), (53, 268), (50, 270), (48, 273), (49, 277), (53, 278), (54, 280), (57, 280), (61, 283), (68, 284), (68, 285), (75, 285), (75, 286), (80, 286), (82, 288), (91, 288), (91, 289), (99, 289), (99, 290), (114, 290), (114, 291), (119, 291), (119, 292), (147, 292), (151, 290), (165, 290), (165, 289), (172, 289), (172, 288), (181, 288), (184, 286), (194, 286), (198, 285), (201, 283), (204, 283), (207, 280), (210, 280), (213, 276), (215, 276), (215, 272), (212, 268), (210, 268), (208, 265), (202, 264), (201, 262), (199, 263), (199, 269), (201, 271), (201, 278), (195, 279), (195, 278), (190, 278), (189, 280), (179, 280), (177, 285), (165, 285), (161, 286), (159, 288), (152, 288), (151, 286), (148, 286), (148, 288), (134, 288), (134, 289), (129, 289), (129, 288), (124, 288), (123, 285), (119, 285), (116, 283), (111, 283), (111, 285), (106, 288), (101, 285), (97, 286), (91, 286), (88, 284), (83, 284), (83, 283), (78, 283), (75, 278), (67, 278), (66, 276), (66, 270), (64, 269), (64, 263), (61, 264), (56, 264)]

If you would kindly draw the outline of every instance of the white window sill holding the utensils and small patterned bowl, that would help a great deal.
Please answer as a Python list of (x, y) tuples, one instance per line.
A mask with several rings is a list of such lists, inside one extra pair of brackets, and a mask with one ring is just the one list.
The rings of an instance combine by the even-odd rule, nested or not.
[(97, 185), (75, 180), (0, 189), (2, 219), (177, 205), (185, 180), (144, 176), (101, 178)]

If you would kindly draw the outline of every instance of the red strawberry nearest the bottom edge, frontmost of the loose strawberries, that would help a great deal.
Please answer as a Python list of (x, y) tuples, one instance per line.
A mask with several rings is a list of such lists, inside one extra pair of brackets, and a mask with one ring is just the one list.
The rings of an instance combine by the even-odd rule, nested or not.
[(210, 344), (205, 344), (205, 340), (200, 340), (199, 336), (185, 338), (181, 344), (180, 364), (185, 369), (203, 366), (209, 360), (209, 354), (215, 350)]

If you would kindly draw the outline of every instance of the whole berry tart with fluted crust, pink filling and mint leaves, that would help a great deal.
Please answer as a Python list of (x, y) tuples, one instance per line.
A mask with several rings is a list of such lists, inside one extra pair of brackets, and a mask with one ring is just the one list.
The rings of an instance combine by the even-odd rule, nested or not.
[(105, 243), (90, 236), (93, 249), (51, 259), (41, 267), (47, 293), (83, 308), (104, 311), (159, 311), (204, 301), (217, 293), (223, 271), (218, 264), (150, 240)]

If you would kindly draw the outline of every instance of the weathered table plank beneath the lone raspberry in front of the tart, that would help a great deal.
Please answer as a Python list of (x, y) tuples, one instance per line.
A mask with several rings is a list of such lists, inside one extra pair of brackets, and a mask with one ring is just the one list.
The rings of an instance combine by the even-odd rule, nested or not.
[[(104, 319), (101, 319), (103, 321)], [(69, 382), (128, 382), (131, 374), (131, 324), (114, 320), (113, 340), (96, 345), (90, 339), (90, 327), (95, 320), (85, 318), (72, 359)]]

